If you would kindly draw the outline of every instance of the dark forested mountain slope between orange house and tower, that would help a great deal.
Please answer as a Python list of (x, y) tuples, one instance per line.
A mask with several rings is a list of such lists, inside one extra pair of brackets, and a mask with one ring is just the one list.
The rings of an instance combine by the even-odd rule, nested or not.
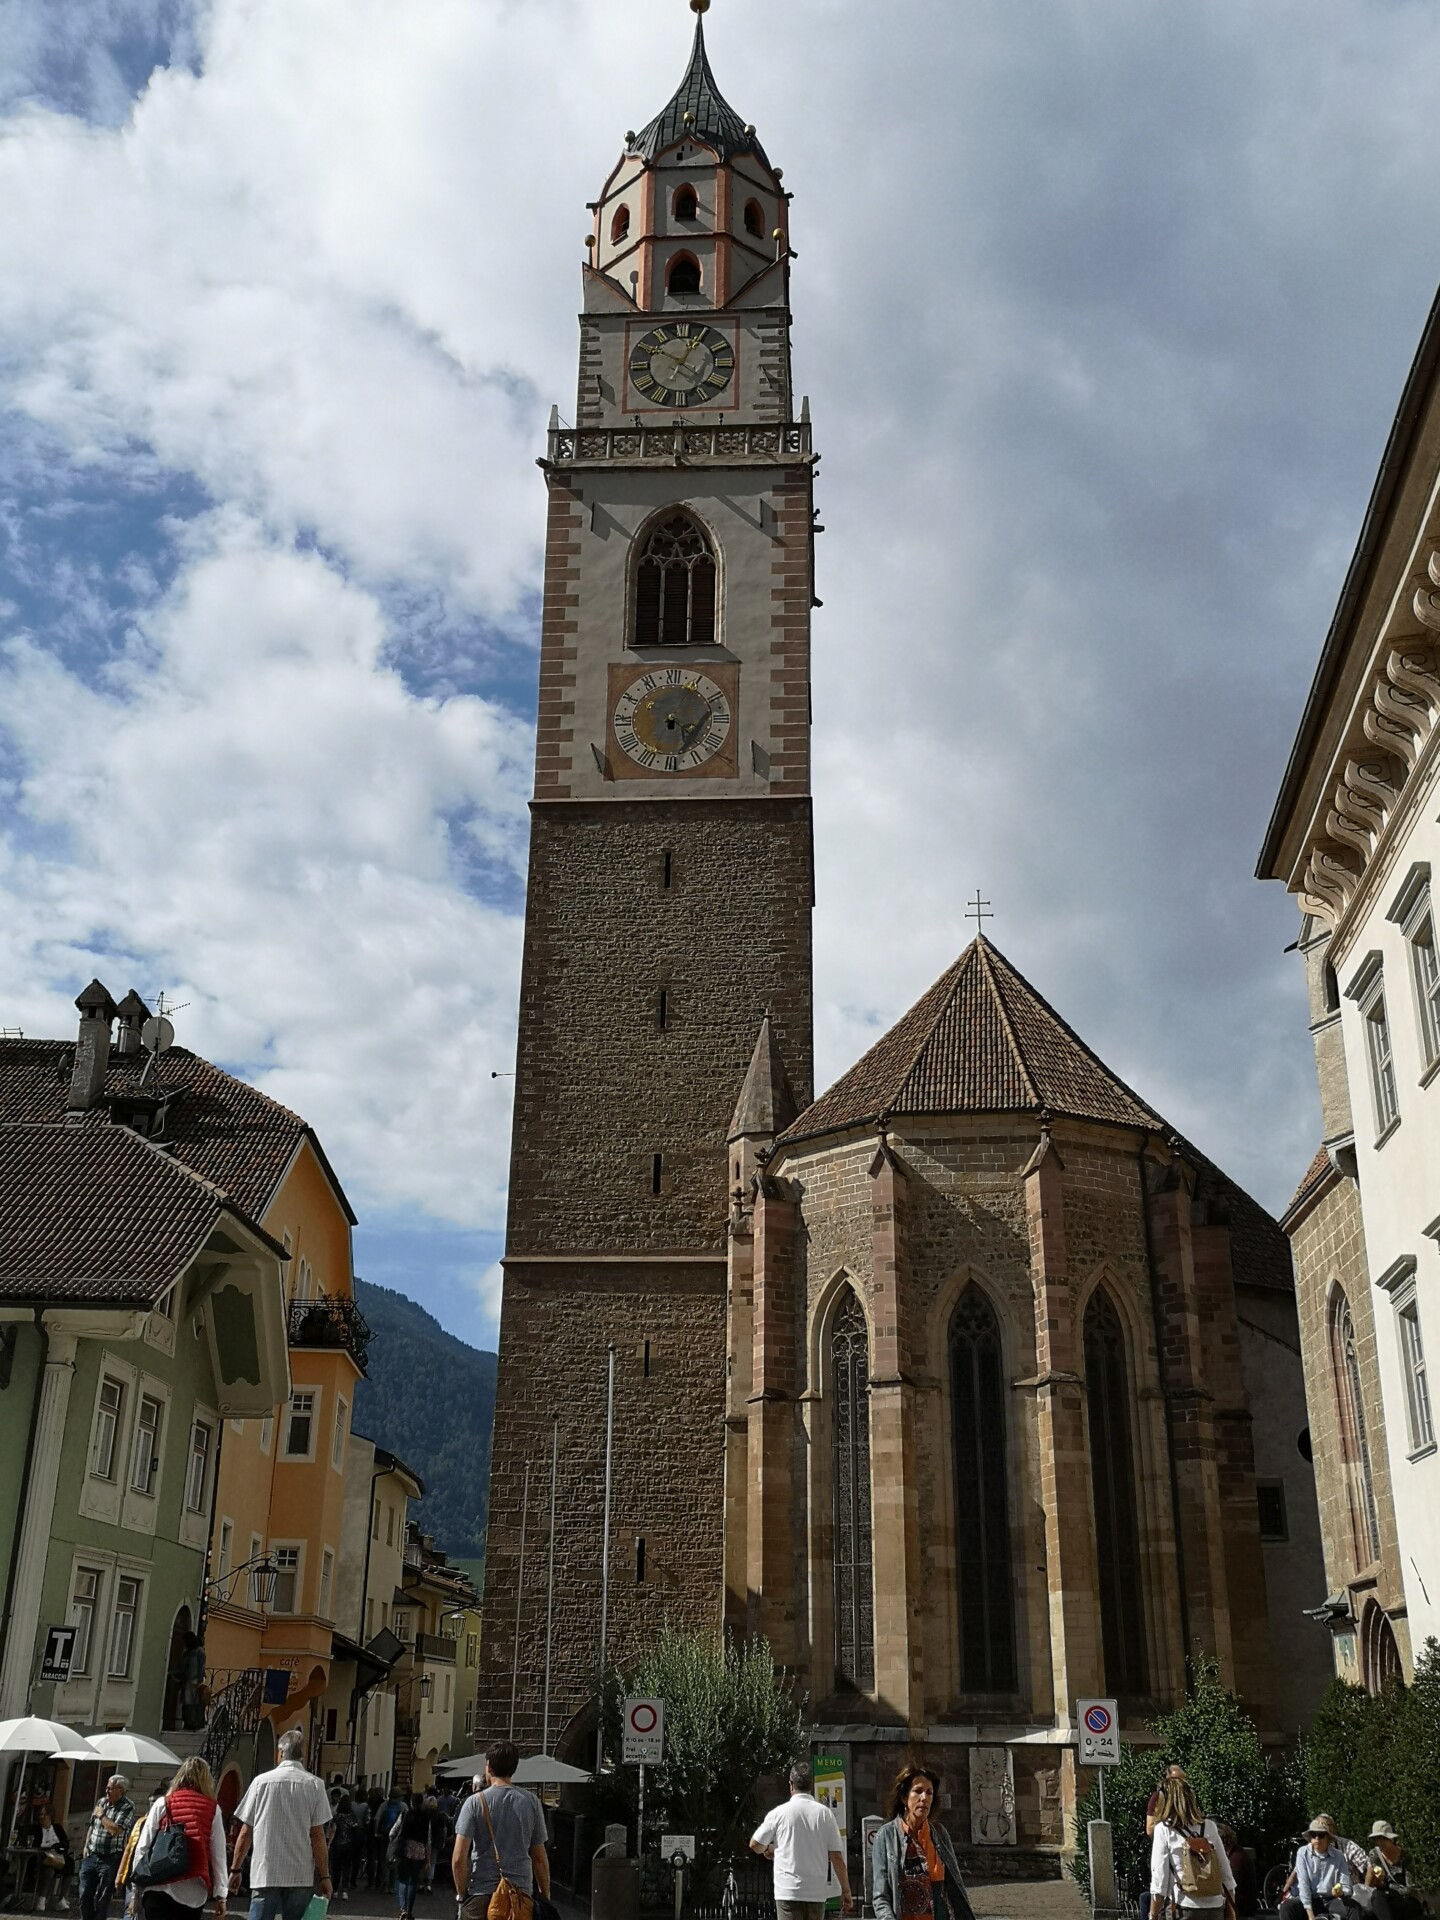
[(355, 1430), (420, 1475), (424, 1500), (411, 1511), (436, 1546), (476, 1559), (486, 1551), (497, 1356), (457, 1340), (388, 1286), (355, 1281), (355, 1304), (374, 1332)]

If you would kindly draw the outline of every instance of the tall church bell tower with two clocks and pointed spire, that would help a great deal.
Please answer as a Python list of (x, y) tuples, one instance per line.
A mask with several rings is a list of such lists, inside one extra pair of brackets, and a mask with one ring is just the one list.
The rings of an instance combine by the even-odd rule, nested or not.
[(551, 417), (540, 463), (480, 1676), (480, 1732), (511, 1724), (515, 1688), (522, 1747), (570, 1753), (601, 1653), (611, 1350), (624, 1659), (662, 1620), (722, 1620), (726, 1135), (766, 1014), (799, 1102), (812, 1091), (816, 455), (791, 384), (789, 196), (720, 94), (703, 19), (591, 217), (574, 426)]

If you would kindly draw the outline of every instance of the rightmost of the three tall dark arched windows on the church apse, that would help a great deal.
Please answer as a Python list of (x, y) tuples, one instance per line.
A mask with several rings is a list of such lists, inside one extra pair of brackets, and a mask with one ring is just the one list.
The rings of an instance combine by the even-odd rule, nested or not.
[(1085, 1309), (1085, 1392), (1091, 1407), (1094, 1553), (1100, 1574), (1100, 1640), (1112, 1693), (1144, 1693), (1144, 1596), (1140, 1521), (1135, 1498), (1135, 1440), (1125, 1329), (1100, 1286)]

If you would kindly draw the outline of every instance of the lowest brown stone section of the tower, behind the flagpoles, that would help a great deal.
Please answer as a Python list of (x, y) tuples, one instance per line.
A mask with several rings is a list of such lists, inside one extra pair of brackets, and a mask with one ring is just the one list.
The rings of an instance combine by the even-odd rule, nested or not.
[[(515, 1734), (540, 1747), (551, 1425), (559, 1421), (551, 1751), (595, 1692), (605, 1371), (616, 1346), (609, 1655), (670, 1620), (720, 1622), (724, 1267), (553, 1267), (505, 1279), (476, 1747), (511, 1724), (524, 1469), (530, 1463)], [(649, 1354), (647, 1354), (649, 1344)], [(649, 1371), (647, 1371), (649, 1369)], [(645, 1542), (643, 1580), (636, 1544)], [(568, 1751), (584, 1761), (584, 1753)], [(589, 1763), (586, 1763), (589, 1764)]]

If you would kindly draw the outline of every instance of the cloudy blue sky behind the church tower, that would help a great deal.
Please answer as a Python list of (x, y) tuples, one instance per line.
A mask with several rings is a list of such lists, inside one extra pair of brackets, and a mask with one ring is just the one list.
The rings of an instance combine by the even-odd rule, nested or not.
[[(0, 1025), (165, 989), (490, 1344), (549, 403), (682, 0), (10, 0)], [(818, 1056), (968, 939), (1279, 1208), (1252, 868), (1440, 278), (1417, 0), (716, 0), (824, 451)]]

